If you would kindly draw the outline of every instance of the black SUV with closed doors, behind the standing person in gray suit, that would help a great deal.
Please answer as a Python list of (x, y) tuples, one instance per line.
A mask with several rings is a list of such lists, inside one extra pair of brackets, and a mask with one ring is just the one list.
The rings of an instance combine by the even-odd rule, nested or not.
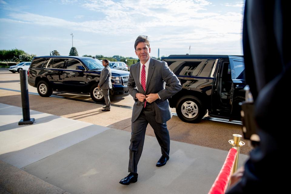
[[(91, 57), (77, 56), (42, 56), (34, 57), (28, 72), (28, 83), (37, 87), (38, 94), (43, 97), (52, 92), (91, 95), (92, 100), (100, 102), (104, 99), (102, 91), (97, 87), (102, 62)], [(111, 95), (128, 92), (129, 72), (112, 69)]]

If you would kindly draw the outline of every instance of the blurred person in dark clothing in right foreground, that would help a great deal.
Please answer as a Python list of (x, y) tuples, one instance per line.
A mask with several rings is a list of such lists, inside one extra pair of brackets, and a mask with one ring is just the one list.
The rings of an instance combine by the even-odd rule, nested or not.
[[(246, 83), (255, 105), (259, 146), (249, 155), (244, 171), (234, 174), (231, 193), (285, 193), (289, 190), (289, 90), (291, 81), (290, 1), (246, 0), (243, 52)], [(288, 165), (288, 166), (287, 166)], [(285, 168), (283, 166), (286, 166)]]

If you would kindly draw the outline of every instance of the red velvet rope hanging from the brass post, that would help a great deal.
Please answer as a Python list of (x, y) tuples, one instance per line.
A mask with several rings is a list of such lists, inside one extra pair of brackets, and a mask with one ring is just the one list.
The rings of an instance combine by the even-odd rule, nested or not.
[(231, 176), (237, 150), (231, 148), (208, 194), (224, 194)]

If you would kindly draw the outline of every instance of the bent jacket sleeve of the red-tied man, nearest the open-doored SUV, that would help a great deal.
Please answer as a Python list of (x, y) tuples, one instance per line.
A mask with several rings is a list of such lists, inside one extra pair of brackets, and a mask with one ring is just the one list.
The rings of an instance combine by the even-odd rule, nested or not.
[(162, 78), (168, 85), (165, 89), (158, 92), (159, 97), (162, 101), (170, 98), (172, 95), (176, 94), (182, 89), (177, 76), (170, 70), (166, 62), (162, 62)]

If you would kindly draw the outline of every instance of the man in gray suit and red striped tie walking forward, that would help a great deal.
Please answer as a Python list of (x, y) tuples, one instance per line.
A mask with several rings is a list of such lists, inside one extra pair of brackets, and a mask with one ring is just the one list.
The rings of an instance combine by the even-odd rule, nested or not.
[(182, 88), (179, 79), (166, 62), (150, 57), (151, 48), (147, 36), (137, 37), (134, 48), (140, 62), (130, 67), (127, 85), (135, 103), (132, 110), (129, 146), (128, 172), (130, 174), (119, 182), (122, 185), (137, 181), (137, 164), (142, 154), (148, 123), (154, 129), (162, 151), (156, 166), (164, 166), (169, 160), (170, 136), (166, 122), (171, 119), (172, 112), (168, 98)]

